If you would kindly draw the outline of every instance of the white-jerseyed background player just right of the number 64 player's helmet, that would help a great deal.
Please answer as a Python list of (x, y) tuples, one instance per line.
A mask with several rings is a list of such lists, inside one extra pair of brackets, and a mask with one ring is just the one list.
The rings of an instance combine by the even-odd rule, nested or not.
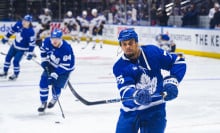
[(78, 43), (80, 42), (80, 38), (78, 36), (79, 33), (79, 24), (76, 22), (76, 19), (73, 17), (73, 13), (68, 11), (66, 13), (66, 17), (63, 19), (64, 26), (67, 27), (72, 40)]

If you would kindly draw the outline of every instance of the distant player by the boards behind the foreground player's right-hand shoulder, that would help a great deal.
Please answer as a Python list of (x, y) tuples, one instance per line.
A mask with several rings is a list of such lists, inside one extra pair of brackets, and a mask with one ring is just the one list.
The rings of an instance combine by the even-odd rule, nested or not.
[(156, 36), (156, 41), (160, 48), (167, 52), (175, 52), (176, 44), (167, 34), (159, 34)]

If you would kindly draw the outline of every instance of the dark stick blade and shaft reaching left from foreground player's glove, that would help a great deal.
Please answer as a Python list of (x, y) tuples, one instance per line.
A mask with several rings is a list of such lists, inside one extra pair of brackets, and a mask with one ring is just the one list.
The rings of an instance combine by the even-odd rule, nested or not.
[(71, 85), (70, 81), (67, 82), (71, 92), (73, 93), (73, 95), (83, 104), (85, 105), (99, 105), (99, 104), (108, 104), (108, 103), (118, 103), (118, 102), (123, 102), (123, 101), (128, 101), (128, 100), (133, 100), (133, 97), (129, 97), (129, 98), (114, 98), (114, 99), (108, 99), (108, 100), (99, 100), (99, 101), (88, 101), (86, 99), (84, 99), (82, 96), (80, 96), (76, 90), (73, 88), (73, 86)]

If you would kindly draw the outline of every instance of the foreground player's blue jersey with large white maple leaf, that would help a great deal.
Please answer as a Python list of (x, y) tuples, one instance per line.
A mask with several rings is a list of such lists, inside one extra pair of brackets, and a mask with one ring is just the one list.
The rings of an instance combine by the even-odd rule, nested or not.
[[(169, 54), (154, 45), (141, 46), (140, 50), (137, 60), (130, 60), (123, 55), (113, 66), (121, 98), (132, 97), (137, 89), (148, 89), (152, 96), (160, 96), (163, 91), (162, 69), (170, 71), (170, 75), (181, 82), (186, 72), (184, 58)], [(137, 111), (163, 103), (165, 101), (162, 96), (148, 105), (137, 105), (129, 100), (122, 103), (121, 110)]]

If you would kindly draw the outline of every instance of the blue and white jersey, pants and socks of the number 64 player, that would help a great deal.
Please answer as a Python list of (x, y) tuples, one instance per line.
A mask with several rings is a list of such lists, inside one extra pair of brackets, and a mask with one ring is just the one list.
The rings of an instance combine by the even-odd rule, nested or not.
[(51, 38), (45, 38), (40, 48), (42, 62), (48, 63), (48, 70), (44, 71), (40, 80), (40, 99), (44, 103), (48, 100), (48, 85), (51, 85), (50, 74), (56, 78), (53, 84), (53, 98), (57, 99), (61, 89), (65, 87), (70, 73), (74, 70), (75, 56), (74, 52), (65, 40), (61, 40), (59, 47), (54, 47)]

